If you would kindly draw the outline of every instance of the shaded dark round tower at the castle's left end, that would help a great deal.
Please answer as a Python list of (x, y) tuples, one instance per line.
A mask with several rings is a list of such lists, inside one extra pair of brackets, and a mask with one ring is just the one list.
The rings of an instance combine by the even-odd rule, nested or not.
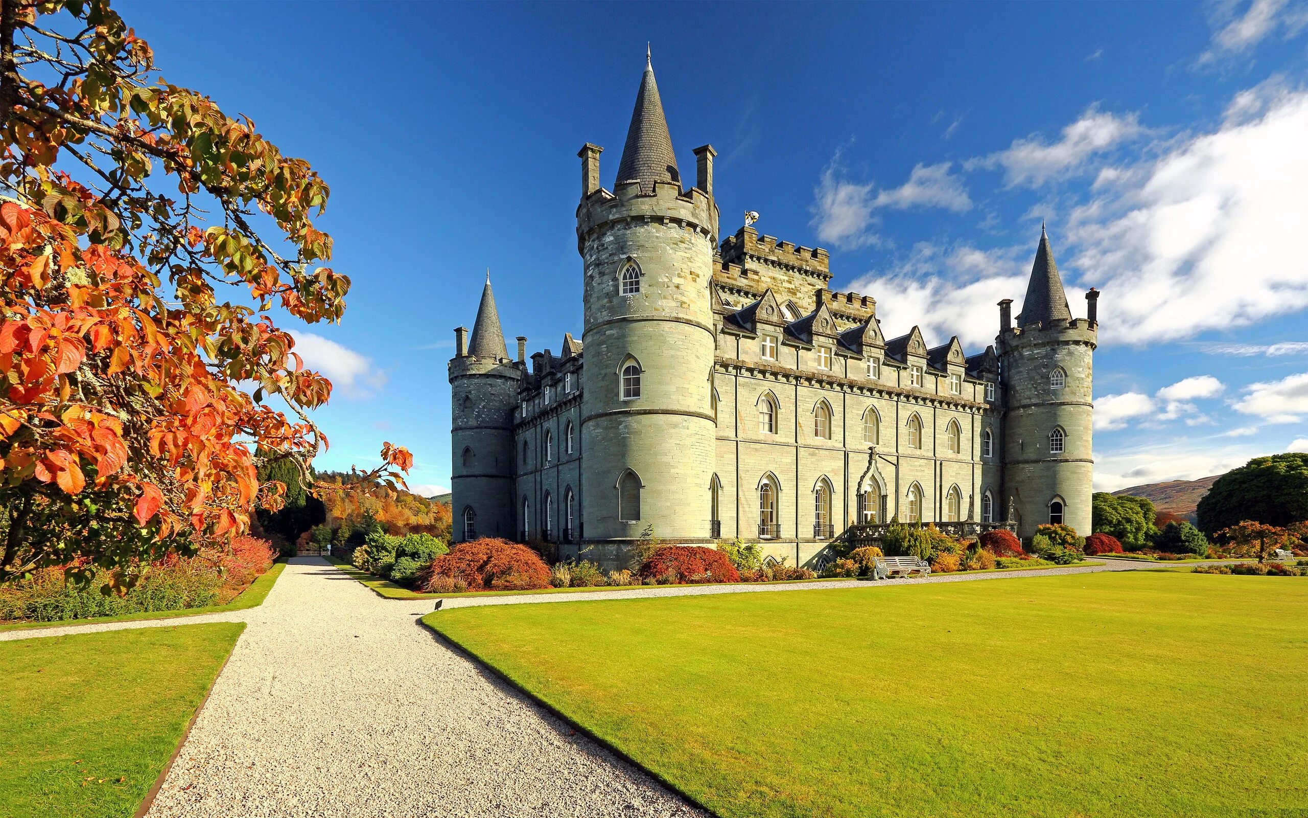
[(514, 537), (513, 410), (522, 370), (509, 360), (490, 292), (490, 274), (472, 325), (471, 344), (455, 330), (450, 359), (454, 541)]

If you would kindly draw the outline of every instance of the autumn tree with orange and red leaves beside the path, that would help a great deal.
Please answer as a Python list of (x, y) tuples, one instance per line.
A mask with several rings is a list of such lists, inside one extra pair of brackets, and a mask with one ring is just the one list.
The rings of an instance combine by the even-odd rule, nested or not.
[[(345, 309), (327, 186), (165, 82), (107, 0), (0, 0), (0, 581), (129, 586), (277, 508), (262, 459), (307, 482), (327, 445), (309, 411), (331, 383), (271, 315)], [(409, 466), (385, 444), (364, 476)]]

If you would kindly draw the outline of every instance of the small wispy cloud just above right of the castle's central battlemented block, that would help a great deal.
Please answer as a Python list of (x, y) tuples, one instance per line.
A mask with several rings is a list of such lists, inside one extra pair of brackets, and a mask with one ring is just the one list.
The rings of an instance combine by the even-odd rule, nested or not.
[(844, 249), (879, 243), (871, 228), (878, 224), (875, 211), (880, 208), (931, 207), (967, 212), (972, 200), (963, 179), (951, 173), (951, 162), (917, 165), (908, 182), (878, 191), (871, 182), (858, 183), (845, 178), (837, 152), (814, 190), (811, 224), (818, 230), (819, 241)]

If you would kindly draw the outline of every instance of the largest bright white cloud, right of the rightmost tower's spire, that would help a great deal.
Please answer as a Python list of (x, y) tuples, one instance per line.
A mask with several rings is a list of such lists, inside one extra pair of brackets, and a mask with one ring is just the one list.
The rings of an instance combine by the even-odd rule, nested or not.
[(1308, 92), (1248, 122), (1155, 143), (1071, 215), (1070, 268), (1107, 343), (1176, 340), (1308, 306)]

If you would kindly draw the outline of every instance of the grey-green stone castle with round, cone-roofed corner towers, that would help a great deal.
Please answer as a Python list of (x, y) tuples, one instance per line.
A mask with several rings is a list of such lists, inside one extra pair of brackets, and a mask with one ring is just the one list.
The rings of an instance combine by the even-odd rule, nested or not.
[(828, 289), (825, 250), (718, 237), (710, 145), (683, 188), (646, 60), (613, 190), (581, 158), (581, 340), (505, 348), (489, 274), (455, 330), (454, 535), (545, 539), (613, 564), (664, 543), (764, 544), (820, 563), (897, 518), (957, 533), (1091, 525), (1097, 292), (1074, 318), (1041, 228), (1022, 313), (993, 347), (884, 338), (870, 296)]

